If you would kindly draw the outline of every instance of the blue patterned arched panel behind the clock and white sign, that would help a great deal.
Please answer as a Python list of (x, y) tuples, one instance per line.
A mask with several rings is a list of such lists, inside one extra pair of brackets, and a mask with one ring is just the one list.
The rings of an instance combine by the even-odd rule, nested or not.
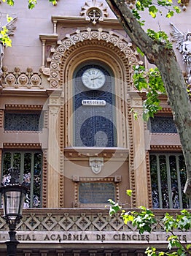
[[(96, 67), (106, 75), (106, 82), (99, 90), (87, 90), (82, 83), (85, 69)], [(74, 84), (74, 144), (75, 146), (114, 147), (117, 146), (117, 130), (114, 124), (114, 83), (103, 67), (87, 65), (79, 69)], [(97, 99), (106, 105), (82, 105), (84, 99)]]

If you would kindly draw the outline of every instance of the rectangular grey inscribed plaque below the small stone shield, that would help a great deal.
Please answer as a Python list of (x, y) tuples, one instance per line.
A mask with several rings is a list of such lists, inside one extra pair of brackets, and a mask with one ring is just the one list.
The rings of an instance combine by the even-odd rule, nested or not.
[(80, 203), (107, 203), (115, 200), (115, 185), (112, 182), (81, 182), (79, 183)]

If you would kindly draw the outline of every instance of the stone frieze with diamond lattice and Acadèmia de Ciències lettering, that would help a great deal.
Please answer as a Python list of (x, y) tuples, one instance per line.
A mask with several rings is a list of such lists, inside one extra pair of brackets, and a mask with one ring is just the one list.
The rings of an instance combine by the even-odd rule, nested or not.
[[(179, 211), (168, 209), (169, 214), (178, 214)], [(149, 243), (166, 243), (168, 233), (162, 228), (160, 219), (163, 218), (165, 211), (154, 211), (159, 223), (152, 225), (152, 233), (139, 234), (136, 227), (130, 223), (124, 224), (120, 214), (109, 217), (109, 209), (94, 208), (54, 208), (50, 212), (50, 208), (39, 208), (38, 211), (29, 208), (23, 211), (23, 219), (17, 225), (17, 240), (25, 243), (37, 244), (43, 243), (79, 243), (88, 241), (93, 243), (122, 242), (127, 244), (145, 244)], [(0, 241), (6, 241), (8, 238), (8, 226), (2, 218), (3, 211), (0, 211)], [(190, 232), (179, 232), (174, 230), (174, 234), (179, 236), (181, 241), (190, 243)], [(128, 247), (125, 252), (127, 253)], [(46, 253), (46, 250), (42, 250)], [(74, 252), (74, 253), (78, 253)], [(26, 252), (30, 253), (30, 252)], [(59, 249), (58, 253), (63, 253)], [(107, 251), (106, 253), (111, 253)]]

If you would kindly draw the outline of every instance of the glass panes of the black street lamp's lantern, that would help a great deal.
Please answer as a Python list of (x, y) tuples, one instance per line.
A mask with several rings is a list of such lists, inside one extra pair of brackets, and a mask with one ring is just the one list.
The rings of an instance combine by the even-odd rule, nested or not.
[[(22, 214), (24, 194), (20, 191), (8, 191), (4, 195), (6, 204), (4, 206), (4, 215), (9, 214), (10, 219), (16, 219), (17, 214)], [(5, 198), (4, 198), (5, 199)]]

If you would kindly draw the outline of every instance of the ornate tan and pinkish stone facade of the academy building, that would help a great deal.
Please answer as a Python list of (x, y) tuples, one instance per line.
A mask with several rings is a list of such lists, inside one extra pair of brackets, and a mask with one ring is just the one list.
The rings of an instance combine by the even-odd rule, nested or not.
[[(57, 7), (44, 4), (39, 1), (33, 12), (27, 10), (28, 18), (23, 15), (23, 5), (15, 5), (15, 13), (19, 14), (17, 29), (12, 48), (4, 49), (1, 72), (0, 177), (7, 165), (15, 162), (24, 173), (28, 152), (42, 154), (41, 207), (24, 211), (23, 222), (17, 227), (18, 256), (142, 256), (148, 244), (159, 241), (163, 249), (166, 238), (160, 224), (153, 226), (152, 235), (140, 235), (136, 227), (124, 225), (118, 215), (109, 217), (108, 209), (103, 208), (109, 195), (125, 208), (152, 208), (150, 153), (181, 152), (176, 132), (151, 132), (142, 119), (145, 95), (133, 86), (133, 66), (149, 64), (137, 53), (105, 1), (74, 4), (60, 0)], [(133, 7), (135, 1), (127, 4)], [(182, 4), (186, 5), (184, 1)], [(5, 3), (1, 5), (4, 12), (9, 12)], [(188, 4), (184, 15), (190, 13)], [(83, 72), (90, 65), (105, 70), (109, 76), (109, 82), (97, 93), (88, 91), (77, 76), (80, 69)], [(81, 87), (75, 93), (77, 85)], [(110, 98), (104, 98), (103, 106), (81, 104), (81, 99), (101, 100), (104, 90)], [(79, 97), (80, 104), (75, 109), (78, 94), (84, 94), (85, 99)], [(112, 118), (106, 116), (105, 106), (109, 104)], [(157, 115), (171, 117), (166, 97), (161, 96), (161, 105), (163, 109)], [(80, 115), (78, 111), (82, 111)], [(112, 121), (113, 146), (75, 144), (75, 127), (85, 115), (89, 118), (89, 113), (101, 116), (95, 124), (102, 133), (106, 129), (108, 132), (106, 118)], [(32, 129), (25, 115), (35, 117), (36, 126), (41, 120), (41, 129)], [(13, 120), (25, 122), (21, 125), (25, 129), (17, 129)], [(81, 136), (83, 131), (79, 128)], [(96, 139), (95, 133), (88, 134)], [(32, 159), (34, 172), (38, 164)], [(125, 195), (127, 189), (132, 189), (131, 197)], [(175, 210), (169, 211), (176, 214)], [(155, 212), (158, 217), (164, 213), (160, 209)], [(0, 214), (0, 254), (4, 256), (7, 225), (2, 211)], [(183, 240), (190, 239), (190, 234), (181, 236)]]

